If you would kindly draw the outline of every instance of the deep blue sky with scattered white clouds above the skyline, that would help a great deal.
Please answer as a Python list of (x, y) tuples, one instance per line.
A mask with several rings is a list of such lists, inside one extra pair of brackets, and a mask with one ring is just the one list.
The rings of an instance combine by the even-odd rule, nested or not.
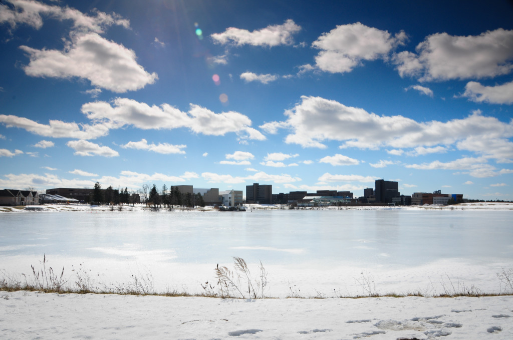
[(2, 188), (512, 199), (511, 2), (0, 6)]

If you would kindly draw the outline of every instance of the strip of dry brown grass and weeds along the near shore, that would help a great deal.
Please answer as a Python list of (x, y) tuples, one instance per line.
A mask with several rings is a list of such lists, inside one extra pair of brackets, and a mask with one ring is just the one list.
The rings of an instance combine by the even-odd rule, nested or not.
[[(40, 268), (36, 269), (30, 266), (29, 274), (22, 273), (24, 280), (17, 280), (5, 270), (0, 270), (0, 291), (37, 291), (44, 293), (58, 294), (121, 294), (121, 295), (154, 295), (154, 296), (196, 296), (205, 298), (223, 298), (223, 299), (273, 299), (265, 295), (267, 286), (267, 270), (262, 262), (258, 267), (258, 275), (252, 275), (251, 271), (242, 258), (234, 257), (234, 269), (230, 270), (226, 266), (219, 264), (214, 268), (216, 284), (208, 281), (201, 284), (203, 291), (200, 293), (190, 293), (187, 288), (182, 290), (165, 289), (158, 291), (153, 285), (153, 276), (149, 270), (141, 272), (139, 269), (130, 276), (128, 283), (114, 284), (107, 286), (98, 281), (100, 274), (93, 275), (90, 269), (86, 269), (83, 263), (78, 267), (72, 266), (72, 274), (65, 274), (65, 268), (54, 270), (48, 265), (46, 254), (43, 261), (40, 261)], [(475, 286), (467, 287), (460, 283), (458, 279), (452, 279), (448, 274), (442, 277), (440, 285), (442, 293), (428, 294), (428, 291), (420, 290), (407, 293), (387, 292), (380, 293), (376, 290), (374, 278), (369, 272), (362, 272), (361, 277), (353, 278), (357, 285), (357, 294), (340, 294), (335, 289), (332, 295), (315, 290), (315, 295), (306, 296), (301, 289), (289, 282), (289, 293), (286, 298), (293, 299), (363, 299), (363, 298), (404, 298), (406, 296), (419, 296), (423, 298), (457, 298), (471, 297), (481, 298), (485, 296), (505, 296), (513, 295), (513, 269), (503, 269), (497, 273), (497, 277), (503, 288), (500, 292), (483, 292)], [(247, 286), (247, 288), (246, 288)], [(431, 282), (433, 291), (434, 285)]]

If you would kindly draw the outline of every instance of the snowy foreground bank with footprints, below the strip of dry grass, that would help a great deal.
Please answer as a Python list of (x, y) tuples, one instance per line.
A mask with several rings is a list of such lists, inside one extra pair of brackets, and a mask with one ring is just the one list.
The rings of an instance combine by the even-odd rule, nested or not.
[(511, 339), (513, 296), (263, 299), (0, 292), (3, 339)]

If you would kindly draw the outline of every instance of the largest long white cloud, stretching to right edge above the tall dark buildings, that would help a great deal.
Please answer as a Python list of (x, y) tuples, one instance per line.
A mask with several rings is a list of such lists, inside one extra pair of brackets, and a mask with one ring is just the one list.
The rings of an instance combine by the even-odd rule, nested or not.
[(394, 155), (400, 155), (400, 149), (417, 147), (417, 154), (440, 153), (455, 145), (501, 162), (513, 159), (513, 143), (508, 140), (513, 137), (513, 121), (502, 122), (479, 110), (446, 122), (418, 122), (399, 115), (379, 116), (321, 97), (301, 99), (285, 111), (286, 121), (266, 123), (290, 130), (285, 138), (289, 144), (325, 148), (324, 141), (335, 140), (343, 142), (341, 148), (392, 147), (388, 153)]

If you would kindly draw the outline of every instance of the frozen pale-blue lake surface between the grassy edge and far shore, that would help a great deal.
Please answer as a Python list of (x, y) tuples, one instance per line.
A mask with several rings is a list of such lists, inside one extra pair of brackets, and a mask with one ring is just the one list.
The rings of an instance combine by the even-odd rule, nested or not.
[[(269, 271), (269, 294), (499, 291), (513, 267), (511, 210), (73, 211), (0, 214), (0, 269), (83, 264), (106, 283), (151, 273), (156, 288), (194, 293), (216, 264), (241, 257)], [(362, 274), (362, 272), (364, 274)], [(295, 288), (294, 288), (295, 287)]]

